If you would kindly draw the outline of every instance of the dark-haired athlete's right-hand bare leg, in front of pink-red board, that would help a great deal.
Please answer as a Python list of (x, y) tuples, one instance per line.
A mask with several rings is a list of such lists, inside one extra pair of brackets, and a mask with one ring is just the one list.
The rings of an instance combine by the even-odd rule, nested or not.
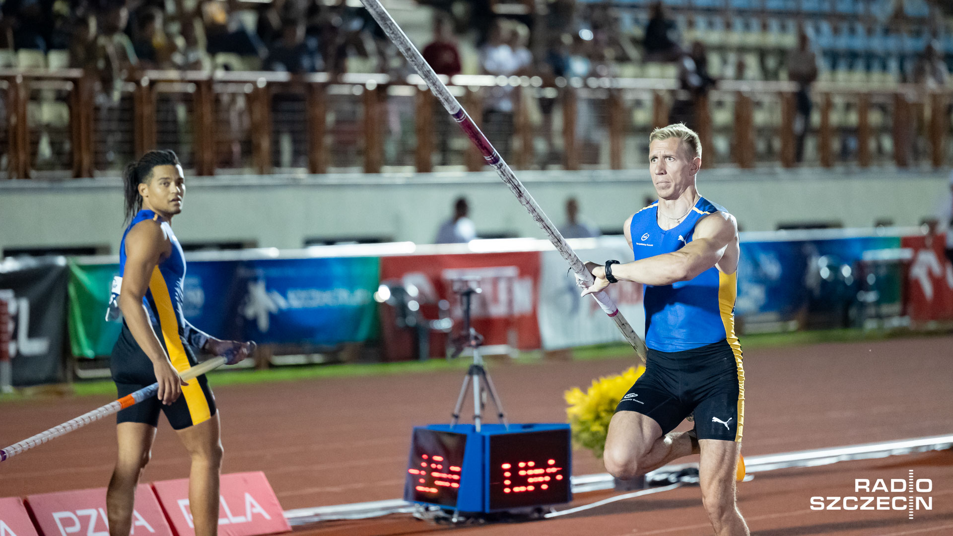
[(215, 536), (218, 532), (218, 477), (222, 469), (218, 413), (204, 423), (176, 430), (176, 433), (192, 456), (189, 507), (195, 536)]

